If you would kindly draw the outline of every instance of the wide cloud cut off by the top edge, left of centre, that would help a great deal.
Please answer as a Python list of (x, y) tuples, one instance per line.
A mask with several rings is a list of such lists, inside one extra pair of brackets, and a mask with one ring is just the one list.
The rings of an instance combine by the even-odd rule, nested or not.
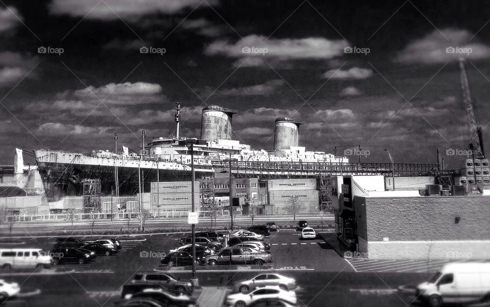
[[(210, 5), (217, 5), (216, 0), (209, 0)], [(115, 20), (121, 18), (137, 19), (155, 13), (175, 14), (183, 9), (197, 7), (200, 0), (145, 0), (144, 4), (134, 0), (54, 0), (50, 13), (69, 15), (89, 19)], [(90, 13), (89, 13), (90, 12)], [(88, 15), (87, 15), (88, 14)]]

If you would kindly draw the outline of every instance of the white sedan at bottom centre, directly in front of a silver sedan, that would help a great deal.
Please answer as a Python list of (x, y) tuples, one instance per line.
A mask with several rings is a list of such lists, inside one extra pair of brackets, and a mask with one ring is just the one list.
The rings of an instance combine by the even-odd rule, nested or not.
[(245, 307), (259, 299), (266, 298), (280, 298), (293, 305), (297, 303), (294, 291), (282, 290), (278, 286), (265, 286), (246, 294), (241, 292), (230, 294), (226, 298), (226, 304), (235, 307)]

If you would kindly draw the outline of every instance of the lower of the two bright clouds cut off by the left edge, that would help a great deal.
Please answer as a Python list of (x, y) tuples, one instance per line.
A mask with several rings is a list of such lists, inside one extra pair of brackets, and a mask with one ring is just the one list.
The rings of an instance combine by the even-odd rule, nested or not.
[(24, 76), (35, 78), (36, 73), (29, 70), (34, 67), (36, 57), (24, 56), (15, 52), (0, 52), (0, 87), (17, 83)]

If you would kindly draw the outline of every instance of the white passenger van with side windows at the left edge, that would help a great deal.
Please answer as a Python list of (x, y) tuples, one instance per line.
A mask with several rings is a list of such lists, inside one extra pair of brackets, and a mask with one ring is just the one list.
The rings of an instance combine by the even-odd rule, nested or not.
[(0, 248), (0, 268), (48, 268), (52, 257), (39, 248)]

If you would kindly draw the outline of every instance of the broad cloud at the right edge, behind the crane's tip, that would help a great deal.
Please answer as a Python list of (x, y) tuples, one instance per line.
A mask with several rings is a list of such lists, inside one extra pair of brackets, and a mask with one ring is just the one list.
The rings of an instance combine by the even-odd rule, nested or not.
[[(471, 60), (490, 57), (490, 46), (470, 39), (473, 34), (467, 30), (448, 28), (441, 30), (446, 39), (439, 31), (434, 30), (428, 35), (409, 43), (395, 57), (395, 62), (400, 63), (446, 63), (455, 61), (460, 57)], [(447, 48), (450, 48), (447, 50)], [(452, 50), (451, 50), (452, 48)], [(461, 49), (456, 49), (461, 48)], [(464, 49), (471, 49), (471, 53), (459, 53)], [(451, 52), (454, 51), (454, 52)]]

